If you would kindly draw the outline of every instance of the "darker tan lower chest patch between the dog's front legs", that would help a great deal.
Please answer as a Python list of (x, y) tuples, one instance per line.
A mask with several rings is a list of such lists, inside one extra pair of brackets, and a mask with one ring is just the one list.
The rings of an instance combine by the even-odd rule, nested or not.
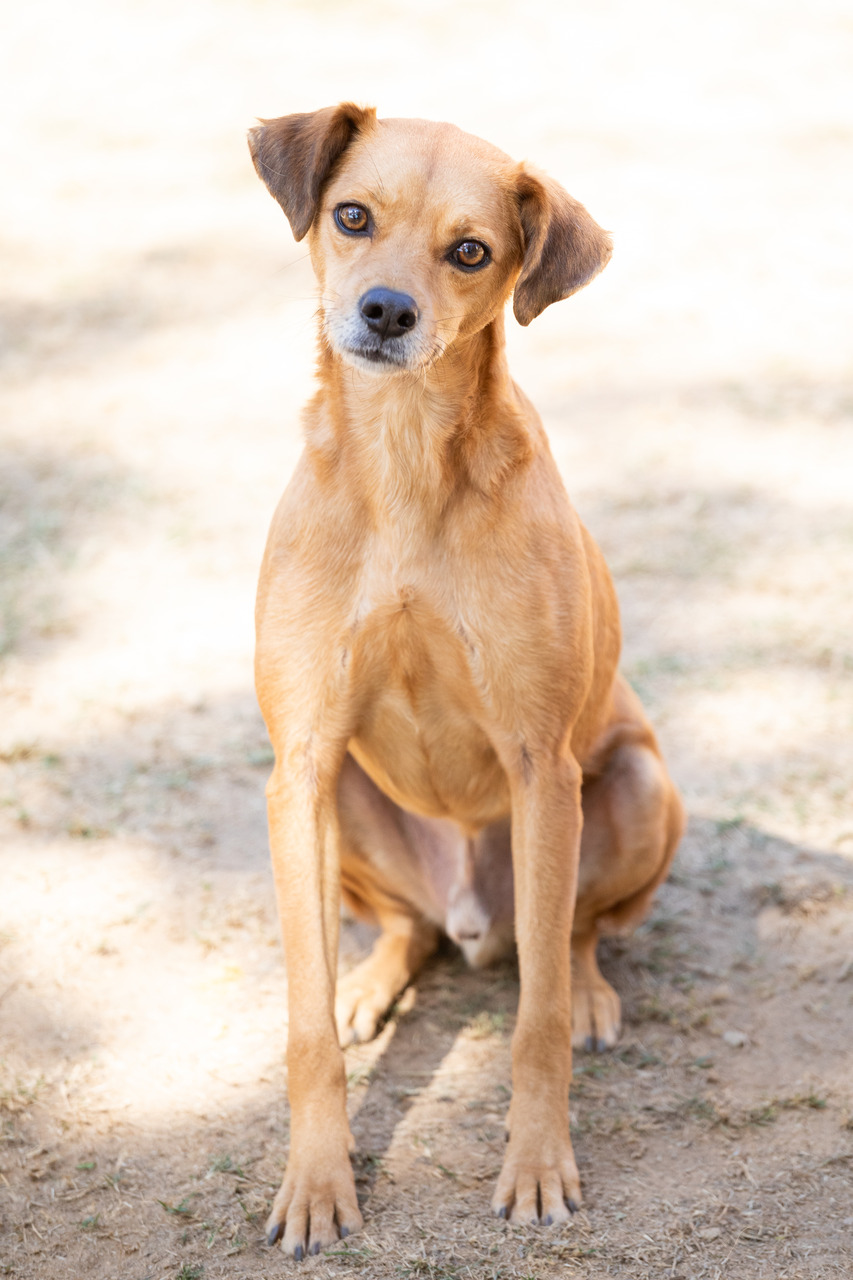
[(350, 750), (403, 809), (476, 831), (510, 812), (506, 774), (478, 723), (464, 645), (419, 613), (397, 609), (364, 628), (353, 658), (369, 694)]

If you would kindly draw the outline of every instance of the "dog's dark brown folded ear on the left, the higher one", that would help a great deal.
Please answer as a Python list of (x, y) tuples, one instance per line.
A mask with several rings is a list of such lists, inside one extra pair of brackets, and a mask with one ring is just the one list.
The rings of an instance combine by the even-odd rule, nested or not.
[(377, 119), (373, 106), (341, 102), (321, 111), (280, 115), (248, 131), (252, 163), (287, 214), (296, 239), (307, 234), (330, 178), (353, 137)]

